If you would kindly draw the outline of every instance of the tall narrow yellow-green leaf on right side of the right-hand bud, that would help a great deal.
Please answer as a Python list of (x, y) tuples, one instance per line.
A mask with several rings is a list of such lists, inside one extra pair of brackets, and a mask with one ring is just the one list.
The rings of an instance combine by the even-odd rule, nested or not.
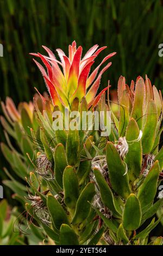
[(149, 101), (147, 109), (147, 119), (142, 133), (143, 154), (151, 153), (155, 141), (156, 125), (158, 122), (157, 109), (153, 100)]

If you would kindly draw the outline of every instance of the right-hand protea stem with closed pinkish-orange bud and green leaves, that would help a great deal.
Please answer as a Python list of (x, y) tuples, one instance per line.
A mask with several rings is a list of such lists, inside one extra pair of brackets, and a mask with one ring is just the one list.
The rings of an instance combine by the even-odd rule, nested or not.
[[(147, 76), (145, 81), (137, 77), (130, 87), (121, 76), (117, 97), (118, 114), (113, 106), (117, 102), (112, 102), (113, 107), (109, 103), (113, 121), (111, 134), (92, 160), (93, 180), (101, 195), (96, 194), (95, 209), (98, 208), (98, 216), (108, 227), (109, 235), (104, 234), (108, 242), (109, 237), (116, 244), (146, 245), (149, 232), (162, 217), (158, 214), (159, 219), (153, 218), (146, 227), (146, 221), (163, 202), (162, 192), (157, 192), (163, 170), (162, 95)], [(104, 102), (98, 105), (104, 106)], [(115, 230), (112, 223), (116, 224)], [(155, 242), (158, 244), (158, 240)]]

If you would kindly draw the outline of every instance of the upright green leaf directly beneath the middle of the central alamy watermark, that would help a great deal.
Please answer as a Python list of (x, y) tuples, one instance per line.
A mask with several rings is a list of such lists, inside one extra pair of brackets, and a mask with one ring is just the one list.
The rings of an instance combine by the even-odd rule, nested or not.
[(79, 134), (78, 130), (68, 132), (66, 143), (67, 161), (70, 166), (76, 165), (79, 160)]

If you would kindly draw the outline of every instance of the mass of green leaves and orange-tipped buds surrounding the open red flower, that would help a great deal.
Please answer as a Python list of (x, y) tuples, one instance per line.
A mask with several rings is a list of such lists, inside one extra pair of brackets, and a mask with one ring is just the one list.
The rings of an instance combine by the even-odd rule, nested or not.
[[(159, 237), (149, 239), (162, 221), (162, 196), (157, 198), (162, 175), (162, 96), (147, 76), (145, 81), (137, 77), (130, 88), (121, 76), (117, 96), (118, 111), (109, 95), (106, 104), (105, 94), (96, 108), (111, 111), (111, 134), (105, 137), (93, 129), (56, 131), (52, 117), (59, 107), (46, 95), (35, 95), (34, 102), (21, 103), (18, 110), (9, 98), (6, 105), (2, 103), (8, 145), (2, 143), (1, 148), (14, 171), (12, 175), (4, 168), (8, 180), (3, 183), (26, 209), (28, 224), (23, 222), (23, 230), (32, 225), (37, 241), (45, 239), (55, 245), (162, 243)], [(85, 97), (81, 104), (73, 100), (70, 112), (76, 108), (80, 112), (87, 108)], [(153, 218), (151, 223), (149, 218)]]

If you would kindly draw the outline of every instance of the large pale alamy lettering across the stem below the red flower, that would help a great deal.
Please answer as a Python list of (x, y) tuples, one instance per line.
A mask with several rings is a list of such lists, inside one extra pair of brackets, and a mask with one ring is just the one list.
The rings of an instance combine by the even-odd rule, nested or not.
[(101, 136), (109, 136), (111, 132), (111, 112), (110, 111), (71, 111), (65, 108), (64, 113), (53, 112), (54, 130), (97, 130)]

